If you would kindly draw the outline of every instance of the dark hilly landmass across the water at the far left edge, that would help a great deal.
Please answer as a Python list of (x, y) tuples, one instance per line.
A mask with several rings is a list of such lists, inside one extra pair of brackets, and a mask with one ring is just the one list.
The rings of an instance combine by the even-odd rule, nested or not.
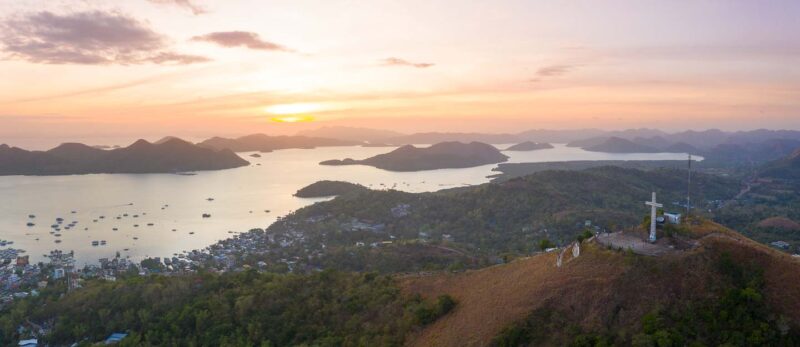
[(0, 175), (171, 173), (248, 164), (229, 150), (202, 148), (177, 138), (161, 143), (138, 140), (128, 147), (112, 150), (80, 143), (65, 143), (48, 151), (0, 145)]

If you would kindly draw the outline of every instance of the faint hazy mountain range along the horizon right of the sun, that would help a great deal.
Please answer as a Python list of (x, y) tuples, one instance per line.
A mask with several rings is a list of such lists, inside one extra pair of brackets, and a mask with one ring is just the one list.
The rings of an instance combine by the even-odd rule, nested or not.
[[(764, 163), (791, 154), (800, 148), (800, 131), (766, 130), (725, 132), (716, 129), (687, 130), (668, 133), (658, 129), (628, 129), (604, 131), (578, 130), (527, 130), (517, 134), (482, 133), (415, 133), (397, 136), (394, 132), (385, 138), (377, 137), (381, 131), (361, 128), (323, 128), (324, 134), (342, 141), (370, 141), (383, 144), (433, 144), (447, 141), (477, 141), (487, 144), (522, 142), (567, 143), (588, 151), (606, 153), (689, 153), (700, 155), (714, 165), (738, 163)], [(363, 135), (362, 135), (363, 133)], [(314, 132), (304, 132), (314, 134)]]

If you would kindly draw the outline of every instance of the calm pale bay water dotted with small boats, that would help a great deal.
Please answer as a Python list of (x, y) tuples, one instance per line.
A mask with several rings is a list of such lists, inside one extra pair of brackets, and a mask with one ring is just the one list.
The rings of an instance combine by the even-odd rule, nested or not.
[[(250, 166), (198, 172), (194, 176), (0, 177), (0, 240), (14, 242), (0, 249), (24, 249), (31, 261), (44, 260), (43, 254), (53, 249), (74, 250), (77, 265), (114, 257), (116, 252), (135, 260), (148, 256), (171, 256), (184, 250), (204, 248), (230, 237), (231, 231), (266, 228), (278, 216), (325, 200), (292, 196), (298, 189), (319, 180), (343, 180), (373, 189), (435, 191), (488, 182), (486, 176), (493, 174), (491, 169), (496, 166), (389, 172), (369, 166), (318, 165), (327, 159), (363, 159), (391, 149), (292, 149), (262, 153), (261, 158), (252, 158), (249, 156), (251, 153), (239, 153), (251, 162)], [(596, 153), (562, 145), (542, 151), (506, 152), (506, 155), (511, 157), (509, 162), (686, 158), (685, 154), (674, 153)], [(203, 218), (204, 213), (211, 217)], [(36, 218), (29, 219), (31, 214)], [(134, 215), (138, 217), (134, 218)], [(59, 217), (64, 219), (63, 225), (73, 221), (77, 223), (69, 230), (62, 228), (58, 232), (61, 236), (56, 237), (51, 234), (50, 225)], [(26, 226), (29, 221), (36, 225)], [(57, 239), (61, 243), (55, 243)], [(92, 246), (94, 240), (105, 240), (107, 244)]]

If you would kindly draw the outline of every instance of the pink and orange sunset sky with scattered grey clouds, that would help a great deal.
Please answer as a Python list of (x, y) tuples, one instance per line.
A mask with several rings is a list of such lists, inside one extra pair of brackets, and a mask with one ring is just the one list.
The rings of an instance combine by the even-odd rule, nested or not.
[(0, 0), (0, 143), (800, 129), (800, 2)]

